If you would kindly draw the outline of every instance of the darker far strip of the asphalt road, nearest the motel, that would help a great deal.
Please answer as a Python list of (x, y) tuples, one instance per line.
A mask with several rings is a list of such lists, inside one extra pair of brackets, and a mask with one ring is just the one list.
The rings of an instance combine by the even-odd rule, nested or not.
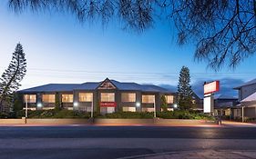
[(5, 138), (256, 139), (256, 127), (38, 126), (0, 127)]

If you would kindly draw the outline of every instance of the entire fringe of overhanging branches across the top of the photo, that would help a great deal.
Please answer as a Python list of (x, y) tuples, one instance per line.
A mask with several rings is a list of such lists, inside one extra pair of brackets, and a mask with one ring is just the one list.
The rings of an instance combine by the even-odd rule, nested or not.
[[(118, 19), (122, 26), (143, 32), (155, 22), (173, 22), (178, 43), (194, 43), (195, 59), (219, 70), (235, 67), (256, 53), (256, 0), (9, 0), (15, 13), (60, 11), (79, 22)], [(42, 12), (44, 13), (44, 12)], [(113, 20), (111, 22), (117, 22)]]

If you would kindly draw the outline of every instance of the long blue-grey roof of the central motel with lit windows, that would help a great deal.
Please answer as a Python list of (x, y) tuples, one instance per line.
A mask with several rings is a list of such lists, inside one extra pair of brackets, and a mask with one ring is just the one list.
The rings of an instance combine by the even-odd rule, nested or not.
[[(108, 79), (108, 78), (107, 78)], [(153, 84), (121, 83), (116, 80), (109, 80), (118, 90), (171, 93), (169, 90)], [(95, 90), (102, 82), (88, 82), (84, 84), (45, 84), (18, 91), (19, 93), (36, 92), (69, 92), (74, 90)]]

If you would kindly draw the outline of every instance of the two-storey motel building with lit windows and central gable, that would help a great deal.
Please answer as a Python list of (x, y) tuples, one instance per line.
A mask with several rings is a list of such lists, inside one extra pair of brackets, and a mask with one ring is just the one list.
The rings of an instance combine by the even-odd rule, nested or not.
[(18, 92), (30, 110), (54, 109), (56, 101), (62, 108), (101, 114), (160, 111), (160, 98), (166, 97), (172, 111), (175, 93), (153, 84), (122, 83), (108, 78), (102, 82), (84, 84), (45, 84)]

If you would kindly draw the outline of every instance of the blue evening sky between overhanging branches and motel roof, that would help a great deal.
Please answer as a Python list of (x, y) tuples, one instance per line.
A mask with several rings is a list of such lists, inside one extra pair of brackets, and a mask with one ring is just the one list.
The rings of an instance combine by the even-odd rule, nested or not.
[(221, 84), (221, 79), (228, 79), (230, 84), (237, 84), (232, 80), (241, 84), (256, 77), (256, 71), (251, 69), (256, 66), (255, 55), (236, 70), (223, 68), (219, 73), (207, 69), (206, 63), (194, 62), (194, 45), (177, 45), (175, 28), (167, 22), (158, 21), (153, 28), (138, 34), (124, 31), (118, 23), (106, 29), (100, 23), (82, 25), (71, 15), (15, 15), (5, 3), (0, 2), (0, 73), (20, 42), (27, 59), (21, 88), (101, 81), (106, 77), (176, 85), (182, 65), (189, 67), (191, 82), (199, 91), (205, 80), (219, 79)]

